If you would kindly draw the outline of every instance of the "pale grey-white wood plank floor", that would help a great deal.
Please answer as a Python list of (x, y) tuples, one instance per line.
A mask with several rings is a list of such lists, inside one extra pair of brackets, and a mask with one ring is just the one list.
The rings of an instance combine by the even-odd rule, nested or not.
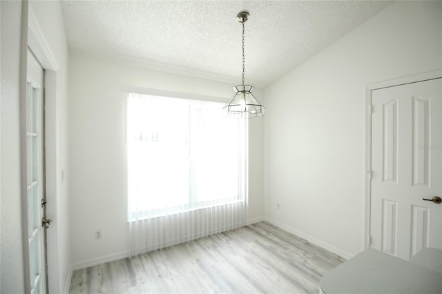
[(345, 259), (267, 222), (73, 272), (75, 293), (318, 293)]

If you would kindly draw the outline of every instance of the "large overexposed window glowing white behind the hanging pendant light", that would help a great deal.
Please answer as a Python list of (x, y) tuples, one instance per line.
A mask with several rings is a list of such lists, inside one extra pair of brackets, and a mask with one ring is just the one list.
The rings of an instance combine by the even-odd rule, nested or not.
[(244, 199), (246, 126), (223, 103), (129, 94), (129, 218)]

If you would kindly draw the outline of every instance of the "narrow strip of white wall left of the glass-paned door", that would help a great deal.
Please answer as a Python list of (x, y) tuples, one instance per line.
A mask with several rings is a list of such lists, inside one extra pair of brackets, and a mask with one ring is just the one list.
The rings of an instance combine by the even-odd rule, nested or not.
[(21, 2), (1, 7), (1, 293), (24, 293), (20, 195)]

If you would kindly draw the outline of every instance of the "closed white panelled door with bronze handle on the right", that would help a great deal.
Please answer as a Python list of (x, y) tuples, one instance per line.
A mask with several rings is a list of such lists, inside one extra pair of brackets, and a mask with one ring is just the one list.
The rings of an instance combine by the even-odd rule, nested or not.
[(442, 249), (442, 79), (372, 92), (371, 246)]

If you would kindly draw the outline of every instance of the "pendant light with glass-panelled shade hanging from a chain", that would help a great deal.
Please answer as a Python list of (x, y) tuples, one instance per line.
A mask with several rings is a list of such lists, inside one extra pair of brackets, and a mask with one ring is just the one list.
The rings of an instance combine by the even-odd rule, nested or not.
[(244, 23), (247, 21), (247, 19), (249, 19), (249, 12), (242, 11), (238, 13), (236, 19), (239, 23), (242, 23), (242, 85), (233, 87), (233, 92), (235, 92), (235, 95), (233, 95), (232, 99), (230, 99), (230, 101), (222, 109), (227, 112), (228, 117), (262, 117), (262, 115), (265, 115), (265, 108), (251, 94), (255, 87), (251, 85), (244, 85)]

